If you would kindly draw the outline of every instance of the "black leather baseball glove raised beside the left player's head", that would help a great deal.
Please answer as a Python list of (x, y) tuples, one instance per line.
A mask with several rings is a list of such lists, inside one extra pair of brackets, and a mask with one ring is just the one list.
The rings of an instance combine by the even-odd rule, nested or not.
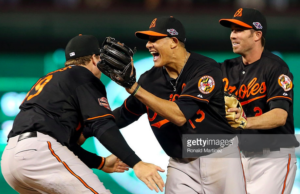
[(100, 49), (97, 67), (117, 84), (131, 88), (136, 82), (135, 68), (131, 65), (135, 48), (132, 50), (112, 37), (105, 38)]

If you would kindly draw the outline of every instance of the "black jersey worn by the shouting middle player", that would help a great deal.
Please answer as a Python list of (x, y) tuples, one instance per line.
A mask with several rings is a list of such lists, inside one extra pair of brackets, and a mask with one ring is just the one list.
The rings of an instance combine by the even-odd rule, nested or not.
[[(164, 67), (153, 67), (141, 75), (138, 83), (155, 96), (174, 101), (186, 117), (183, 126), (177, 126), (142, 104), (134, 96), (114, 110), (118, 126), (124, 126), (147, 113), (158, 142), (171, 157), (182, 158), (182, 134), (228, 134), (235, 131), (225, 119), (222, 72), (212, 59), (191, 53), (178, 78), (172, 79)], [(162, 104), (163, 106), (163, 104)]]

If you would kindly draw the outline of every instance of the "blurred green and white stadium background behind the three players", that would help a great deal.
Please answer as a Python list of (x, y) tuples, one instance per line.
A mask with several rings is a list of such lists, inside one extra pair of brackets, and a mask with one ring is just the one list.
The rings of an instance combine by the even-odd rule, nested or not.
[[(282, 57), (294, 74), (294, 119), (300, 133), (300, 0), (0, 0), (0, 156), (7, 134), (19, 112), (26, 92), (38, 78), (63, 67), (64, 47), (78, 34), (92, 34), (101, 42), (112, 36), (138, 49), (134, 57), (137, 73), (150, 69), (152, 57), (145, 41), (134, 36), (148, 29), (155, 17), (172, 15), (186, 28), (186, 47), (221, 62), (235, 57), (229, 41), (230, 30), (219, 25), (221, 18), (232, 17), (239, 7), (260, 9), (267, 17), (266, 49)], [(107, 87), (112, 108), (128, 96), (124, 89), (101, 80)], [(130, 146), (146, 162), (164, 169), (168, 157), (158, 145), (143, 116), (122, 130)], [(84, 148), (109, 155), (90, 138)], [(300, 151), (297, 151), (298, 166)], [(117, 194), (147, 194), (146, 186), (130, 170), (124, 174), (94, 171), (106, 188)], [(161, 174), (164, 179), (166, 173)], [(0, 193), (16, 193), (0, 174)], [(300, 193), (300, 171), (292, 194)]]

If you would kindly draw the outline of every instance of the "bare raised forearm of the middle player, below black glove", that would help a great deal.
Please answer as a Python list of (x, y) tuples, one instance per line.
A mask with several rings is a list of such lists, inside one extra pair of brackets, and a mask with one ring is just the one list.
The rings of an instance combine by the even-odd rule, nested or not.
[[(134, 85), (132, 88), (135, 89), (135, 87), (136, 85)], [(128, 92), (132, 93), (130, 90)], [(184, 114), (181, 112), (175, 102), (158, 98), (142, 87), (139, 88), (138, 92), (135, 94), (135, 97), (158, 115), (168, 119), (175, 125), (182, 126), (184, 123), (186, 123)]]

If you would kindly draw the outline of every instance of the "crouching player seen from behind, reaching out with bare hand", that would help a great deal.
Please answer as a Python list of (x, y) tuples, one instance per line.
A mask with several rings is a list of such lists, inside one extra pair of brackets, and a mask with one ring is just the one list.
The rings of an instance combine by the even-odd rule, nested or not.
[(88, 167), (110, 167), (111, 161), (106, 165), (104, 158), (74, 144), (81, 126), (87, 126), (92, 131), (84, 131), (83, 135), (90, 134), (85, 137), (95, 136), (133, 167), (138, 178), (154, 181), (162, 190), (157, 173), (162, 169), (142, 162), (116, 126), (99, 80), (98, 40), (76, 36), (65, 54), (66, 67), (41, 77), (20, 106), (2, 156), (5, 180), (19, 193), (110, 193)]

